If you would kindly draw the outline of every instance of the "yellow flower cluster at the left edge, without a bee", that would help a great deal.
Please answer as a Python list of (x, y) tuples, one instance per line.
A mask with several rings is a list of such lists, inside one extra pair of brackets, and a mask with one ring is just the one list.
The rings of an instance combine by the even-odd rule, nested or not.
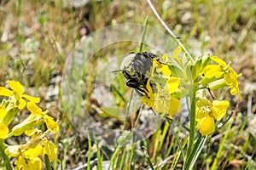
[[(0, 95), (8, 97), (3, 99), (0, 105), (0, 141), (9, 139), (13, 136), (20, 136), (25, 133), (30, 139), (26, 144), (8, 145), (4, 152), (6, 155), (16, 157), (16, 169), (41, 169), (41, 159), (39, 156), (47, 155), (49, 161), (54, 161), (57, 148), (47, 135), (58, 133), (59, 125), (53, 117), (48, 115), (49, 111), (42, 111), (36, 105), (40, 98), (35, 98), (24, 94), (24, 88), (20, 82), (9, 81), (9, 88), (0, 87)], [(16, 113), (22, 109), (30, 111), (30, 115), (23, 122), (15, 125), (9, 130)], [(39, 126), (46, 124), (47, 130), (44, 132), (38, 129)], [(2, 152), (3, 153), (3, 152)]]

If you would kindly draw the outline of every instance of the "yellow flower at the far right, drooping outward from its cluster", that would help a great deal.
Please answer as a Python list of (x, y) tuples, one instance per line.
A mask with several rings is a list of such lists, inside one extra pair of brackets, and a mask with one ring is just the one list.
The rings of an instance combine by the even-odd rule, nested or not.
[(230, 65), (227, 65), (223, 59), (218, 58), (217, 56), (210, 56), (212, 61), (218, 63), (218, 65), (207, 65), (204, 69), (204, 77), (202, 82), (207, 82), (209, 78), (220, 79), (224, 77), (224, 81), (230, 87), (230, 94), (238, 94), (239, 99), (241, 99), (241, 94), (238, 87), (238, 76), (236, 71)]

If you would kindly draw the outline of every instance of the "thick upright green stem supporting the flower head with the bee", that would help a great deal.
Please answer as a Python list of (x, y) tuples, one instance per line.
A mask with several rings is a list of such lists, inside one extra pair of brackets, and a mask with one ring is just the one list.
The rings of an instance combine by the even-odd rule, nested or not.
[(195, 104), (196, 104), (196, 99), (195, 99), (195, 84), (193, 82), (191, 84), (190, 99), (191, 99), (191, 109), (190, 109), (190, 113), (189, 113), (190, 114), (189, 147), (188, 147), (187, 154), (186, 154), (185, 165), (188, 163), (189, 156), (191, 155), (191, 152), (193, 150), (193, 144), (194, 144), (194, 139), (195, 139)]

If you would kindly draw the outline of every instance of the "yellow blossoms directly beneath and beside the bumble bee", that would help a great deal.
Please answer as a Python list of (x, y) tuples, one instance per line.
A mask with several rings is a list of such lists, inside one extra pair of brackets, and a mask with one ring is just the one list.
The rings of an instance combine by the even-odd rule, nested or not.
[[(163, 60), (165, 60), (165, 56)], [(148, 105), (155, 112), (164, 116), (173, 116), (179, 111), (181, 105), (175, 95), (180, 82), (177, 77), (171, 75), (172, 71), (168, 65), (153, 59), (151, 75), (146, 84), (148, 93), (141, 98), (144, 105)]]

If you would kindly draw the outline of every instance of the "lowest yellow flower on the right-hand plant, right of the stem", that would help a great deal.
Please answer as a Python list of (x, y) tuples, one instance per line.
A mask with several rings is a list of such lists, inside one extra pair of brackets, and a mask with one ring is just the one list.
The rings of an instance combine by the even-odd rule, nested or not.
[(227, 112), (230, 103), (227, 100), (213, 100), (212, 103), (208, 99), (199, 99), (196, 103), (195, 120), (196, 128), (202, 135), (208, 135), (214, 132), (214, 119), (219, 121)]

